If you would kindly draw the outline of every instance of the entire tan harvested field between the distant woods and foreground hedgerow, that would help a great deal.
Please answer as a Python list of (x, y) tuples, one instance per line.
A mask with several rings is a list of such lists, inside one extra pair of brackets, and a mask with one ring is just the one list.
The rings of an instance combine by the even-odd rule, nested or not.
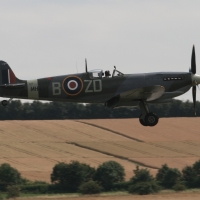
[(126, 179), (136, 165), (152, 174), (164, 163), (182, 169), (200, 158), (199, 122), (163, 118), (155, 127), (143, 127), (138, 119), (1, 121), (0, 164), (48, 182), (56, 163), (72, 160), (94, 167), (115, 160)]

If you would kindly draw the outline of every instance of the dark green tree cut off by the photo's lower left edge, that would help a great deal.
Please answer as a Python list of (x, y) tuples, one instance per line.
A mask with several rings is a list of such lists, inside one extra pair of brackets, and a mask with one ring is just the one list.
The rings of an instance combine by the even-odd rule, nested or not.
[(9, 164), (4, 163), (0, 166), (0, 187), (5, 190), (8, 186), (20, 184), (21, 174)]

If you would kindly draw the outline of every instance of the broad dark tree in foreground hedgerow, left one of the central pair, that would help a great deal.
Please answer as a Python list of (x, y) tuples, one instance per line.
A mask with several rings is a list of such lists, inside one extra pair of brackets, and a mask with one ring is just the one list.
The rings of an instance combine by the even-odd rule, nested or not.
[(76, 192), (83, 182), (92, 180), (95, 169), (87, 164), (72, 161), (64, 162), (54, 166), (51, 174), (51, 182), (57, 183), (65, 191)]

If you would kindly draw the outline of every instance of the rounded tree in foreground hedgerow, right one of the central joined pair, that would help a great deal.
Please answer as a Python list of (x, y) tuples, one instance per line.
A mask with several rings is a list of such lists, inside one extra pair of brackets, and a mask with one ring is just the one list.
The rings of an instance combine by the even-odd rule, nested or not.
[(110, 190), (114, 183), (124, 181), (124, 177), (124, 167), (115, 161), (108, 161), (99, 165), (94, 179), (98, 181), (105, 190)]

